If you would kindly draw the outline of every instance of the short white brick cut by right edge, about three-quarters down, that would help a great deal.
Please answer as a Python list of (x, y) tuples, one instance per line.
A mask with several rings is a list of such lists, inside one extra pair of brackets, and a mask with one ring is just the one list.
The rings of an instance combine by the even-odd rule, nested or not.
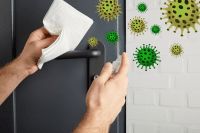
[(200, 107), (200, 91), (188, 94), (189, 107)]

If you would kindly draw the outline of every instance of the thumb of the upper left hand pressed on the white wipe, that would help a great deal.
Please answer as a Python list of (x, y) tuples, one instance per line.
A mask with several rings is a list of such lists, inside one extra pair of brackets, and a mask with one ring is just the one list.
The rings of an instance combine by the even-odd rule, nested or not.
[(43, 39), (41, 41), (37, 41), (40, 48), (47, 48), (50, 46), (55, 40), (57, 39), (57, 36), (51, 36), (49, 38)]

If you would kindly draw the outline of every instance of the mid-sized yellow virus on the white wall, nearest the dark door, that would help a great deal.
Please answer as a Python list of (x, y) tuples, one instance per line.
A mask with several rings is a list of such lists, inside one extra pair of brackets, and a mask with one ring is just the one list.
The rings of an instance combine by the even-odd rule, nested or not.
[(136, 36), (143, 35), (147, 30), (147, 23), (144, 18), (134, 17), (129, 22), (129, 29)]

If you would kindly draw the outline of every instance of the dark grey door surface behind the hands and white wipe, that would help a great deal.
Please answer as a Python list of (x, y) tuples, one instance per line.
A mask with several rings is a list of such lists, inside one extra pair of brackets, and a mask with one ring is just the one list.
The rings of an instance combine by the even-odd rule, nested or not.
[[(0, 10), (6, 16), (0, 22), (1, 62), (18, 55), (29, 34), (42, 26), (42, 19), (53, 0), (2, 0)], [(113, 61), (125, 49), (125, 1), (117, 21), (106, 22), (96, 11), (98, 0), (66, 0), (94, 20), (77, 50), (87, 49), (87, 39), (96, 36), (104, 45), (106, 60)], [(2, 4), (1, 4), (2, 3)], [(2, 24), (1, 24), (2, 23)], [(2, 26), (5, 25), (5, 26)], [(118, 45), (106, 43), (104, 35), (118, 31)], [(2, 133), (69, 133), (85, 112), (88, 89), (88, 59), (64, 59), (46, 63), (42, 70), (23, 81), (0, 107)], [(111, 133), (125, 133), (125, 109), (112, 125)]]

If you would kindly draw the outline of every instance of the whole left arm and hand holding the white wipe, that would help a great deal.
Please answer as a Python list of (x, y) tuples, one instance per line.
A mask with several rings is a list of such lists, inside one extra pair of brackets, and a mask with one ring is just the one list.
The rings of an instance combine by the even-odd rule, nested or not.
[(44, 28), (31, 33), (25, 47), (18, 58), (0, 69), (0, 105), (27, 76), (38, 70), (37, 62), (42, 49), (48, 47), (56, 39)]

